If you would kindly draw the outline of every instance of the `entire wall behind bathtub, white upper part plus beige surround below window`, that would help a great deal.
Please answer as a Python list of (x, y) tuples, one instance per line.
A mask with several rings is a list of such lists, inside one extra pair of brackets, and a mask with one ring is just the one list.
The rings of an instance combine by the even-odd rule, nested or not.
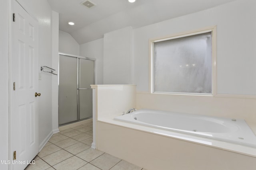
[[(237, 0), (134, 29), (137, 107), (256, 123), (256, 1)], [(149, 94), (149, 39), (217, 25), (217, 96)]]

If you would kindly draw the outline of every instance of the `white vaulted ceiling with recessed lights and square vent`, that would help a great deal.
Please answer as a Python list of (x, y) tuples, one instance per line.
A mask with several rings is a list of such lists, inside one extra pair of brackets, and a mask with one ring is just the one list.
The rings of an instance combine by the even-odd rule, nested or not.
[[(234, 0), (89, 0), (95, 4), (91, 8), (82, 6), (84, 1), (48, 0), (52, 10), (59, 13), (59, 29), (70, 33), (79, 44), (123, 27), (142, 27)], [(68, 21), (75, 25), (68, 25)]]

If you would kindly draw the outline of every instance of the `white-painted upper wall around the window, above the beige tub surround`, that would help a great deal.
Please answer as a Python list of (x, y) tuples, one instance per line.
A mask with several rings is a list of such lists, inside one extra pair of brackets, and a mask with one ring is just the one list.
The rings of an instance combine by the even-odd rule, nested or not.
[(256, 95), (256, 2), (237, 0), (194, 14), (134, 29), (134, 79), (148, 92), (148, 40), (217, 25), (218, 94)]

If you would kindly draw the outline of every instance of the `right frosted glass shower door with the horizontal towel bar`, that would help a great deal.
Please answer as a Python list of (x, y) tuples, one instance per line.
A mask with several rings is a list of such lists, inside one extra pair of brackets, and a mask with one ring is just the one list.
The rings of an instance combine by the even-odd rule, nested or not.
[(79, 59), (79, 119), (92, 117), (92, 89), (94, 84), (94, 61)]

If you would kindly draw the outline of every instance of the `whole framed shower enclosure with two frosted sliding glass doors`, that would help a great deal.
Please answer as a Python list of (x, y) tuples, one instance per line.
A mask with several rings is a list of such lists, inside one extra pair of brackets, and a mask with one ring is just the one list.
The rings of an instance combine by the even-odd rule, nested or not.
[(59, 125), (92, 118), (95, 59), (59, 53)]

